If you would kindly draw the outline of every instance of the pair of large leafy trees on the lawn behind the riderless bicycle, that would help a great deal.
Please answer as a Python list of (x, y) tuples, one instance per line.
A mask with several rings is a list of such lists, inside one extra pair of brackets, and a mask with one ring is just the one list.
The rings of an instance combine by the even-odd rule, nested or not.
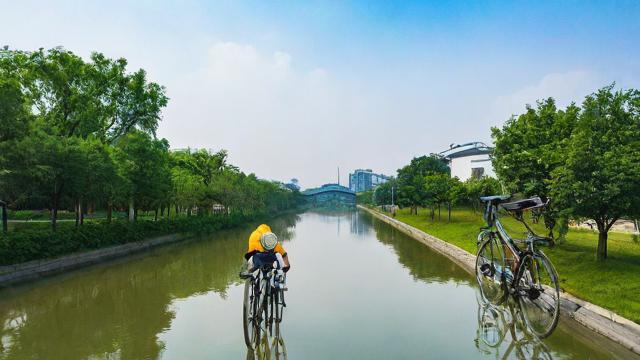
[(550, 199), (544, 220), (551, 235), (569, 219), (593, 220), (604, 260), (613, 224), (640, 216), (640, 91), (610, 85), (565, 109), (548, 98), (492, 135), (505, 188)]

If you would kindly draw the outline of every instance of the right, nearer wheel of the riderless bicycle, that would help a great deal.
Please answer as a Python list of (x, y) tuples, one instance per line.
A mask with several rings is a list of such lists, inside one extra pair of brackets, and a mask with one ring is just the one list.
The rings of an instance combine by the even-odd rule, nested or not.
[(539, 338), (551, 335), (560, 317), (560, 285), (551, 261), (542, 251), (525, 255), (516, 279), (516, 296), (527, 327)]

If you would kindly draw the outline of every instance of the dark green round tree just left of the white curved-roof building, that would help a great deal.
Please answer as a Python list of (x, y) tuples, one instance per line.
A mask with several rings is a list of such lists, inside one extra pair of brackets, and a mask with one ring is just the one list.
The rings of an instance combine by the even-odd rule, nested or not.
[(428, 202), (425, 177), (449, 173), (449, 166), (439, 155), (413, 158), (409, 165), (398, 170), (398, 203), (409, 206), (411, 213), (417, 214), (418, 206)]

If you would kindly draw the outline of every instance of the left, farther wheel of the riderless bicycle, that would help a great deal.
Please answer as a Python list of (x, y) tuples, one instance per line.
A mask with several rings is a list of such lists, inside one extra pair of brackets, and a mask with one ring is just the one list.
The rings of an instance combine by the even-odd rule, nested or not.
[(476, 257), (476, 280), (484, 301), (501, 304), (507, 297), (504, 249), (496, 236), (487, 239)]

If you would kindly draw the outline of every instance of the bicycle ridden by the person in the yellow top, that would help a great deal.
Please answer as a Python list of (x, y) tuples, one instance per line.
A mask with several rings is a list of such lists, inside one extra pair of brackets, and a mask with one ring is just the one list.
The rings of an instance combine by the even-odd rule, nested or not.
[(284, 308), (286, 274), (278, 261), (267, 264), (245, 276), (243, 328), (247, 348), (258, 359), (286, 359), (286, 348), (280, 333)]

